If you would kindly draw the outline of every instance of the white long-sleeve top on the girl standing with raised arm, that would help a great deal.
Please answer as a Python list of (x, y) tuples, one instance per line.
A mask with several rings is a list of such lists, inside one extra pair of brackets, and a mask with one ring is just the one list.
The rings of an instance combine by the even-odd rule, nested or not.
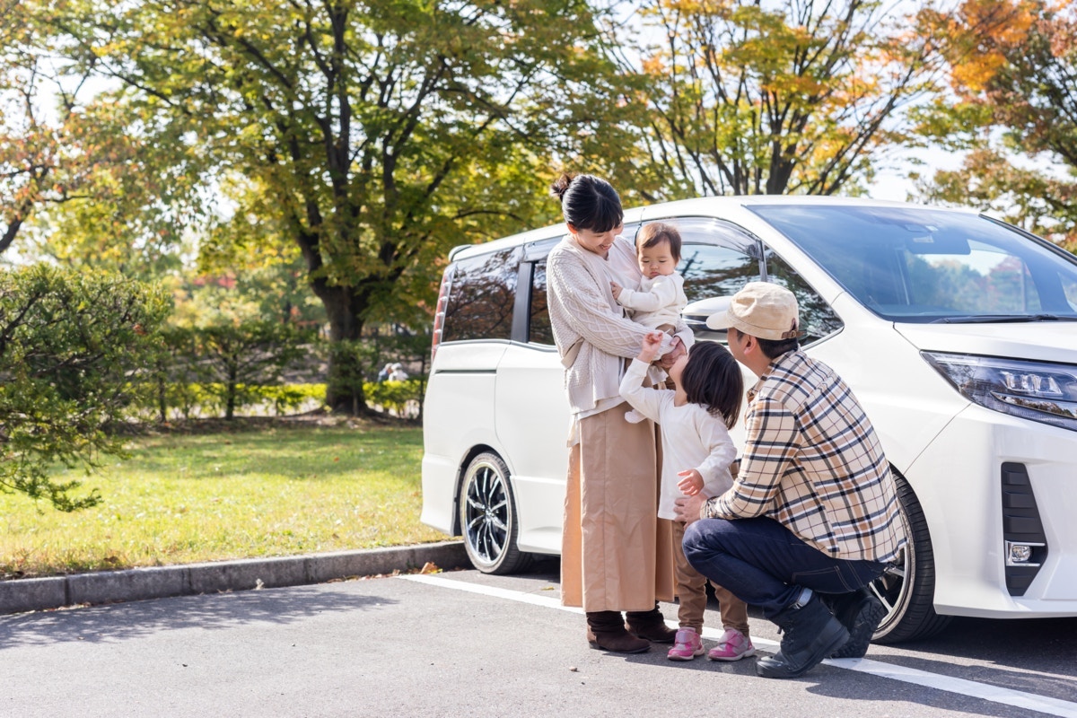
[(632, 360), (620, 382), (620, 395), (632, 408), (661, 426), (662, 477), (658, 498), (658, 518), (675, 519), (673, 502), (683, 494), (677, 489), (679, 471), (696, 469), (703, 477), (703, 493), (724, 494), (733, 485), (729, 466), (737, 459), (737, 447), (722, 419), (699, 404), (676, 406), (671, 389), (643, 385), (645, 362)]

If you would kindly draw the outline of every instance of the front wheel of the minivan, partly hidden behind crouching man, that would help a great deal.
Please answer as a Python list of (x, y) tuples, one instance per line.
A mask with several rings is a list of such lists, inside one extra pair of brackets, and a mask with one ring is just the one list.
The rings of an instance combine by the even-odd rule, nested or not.
[(878, 644), (927, 638), (949, 625), (952, 618), (935, 613), (935, 553), (920, 502), (908, 481), (900, 476), (895, 480), (909, 543), (894, 567), (868, 587), (886, 607), (886, 616), (872, 636)]

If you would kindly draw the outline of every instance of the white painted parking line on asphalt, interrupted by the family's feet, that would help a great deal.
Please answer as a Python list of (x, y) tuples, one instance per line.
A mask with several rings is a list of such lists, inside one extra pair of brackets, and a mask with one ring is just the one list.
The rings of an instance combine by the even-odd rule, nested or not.
[[(454, 591), (467, 591), (470, 593), (479, 593), (481, 595), (504, 599), (506, 601), (528, 603), (533, 606), (543, 606), (544, 608), (556, 608), (558, 610), (567, 610), (573, 614), (584, 613), (581, 608), (562, 606), (560, 599), (554, 596), (542, 596), (533, 593), (509, 591), (490, 586), (475, 586), (474, 583), (465, 583), (463, 581), (456, 581), (432, 575), (409, 574), (407, 576), (400, 576), (400, 578), (416, 581), (418, 583), (429, 583), (430, 586), (452, 589)], [(676, 627), (675, 623), (670, 621), (667, 622), (670, 623), (672, 628)], [(714, 629), (703, 629), (704, 638), (717, 638), (721, 635), (722, 633)], [(771, 651), (778, 648), (778, 643), (774, 640), (753, 637), (752, 642), (756, 644), (757, 647), (765, 647)], [(823, 662), (827, 665), (844, 668), (847, 671), (867, 673), (872, 676), (880, 676), (882, 678), (890, 678), (892, 680), (900, 680), (907, 684), (914, 684), (917, 686), (924, 686), (926, 688), (947, 691), (948, 693), (957, 693), (960, 695), (977, 698), (983, 701), (991, 701), (992, 703), (1002, 703), (1017, 708), (1035, 710), (1049, 716), (1077, 718), (1077, 703), (1073, 703), (1071, 701), (1060, 701), (1058, 699), (1036, 695), (1034, 693), (1015, 691), (1008, 688), (979, 684), (975, 680), (965, 680), (964, 678), (954, 678), (951, 676), (939, 675), (937, 673), (918, 671), (917, 668), (906, 668), (899, 665), (883, 663), (882, 661), (872, 661), (864, 658), (827, 659)]]

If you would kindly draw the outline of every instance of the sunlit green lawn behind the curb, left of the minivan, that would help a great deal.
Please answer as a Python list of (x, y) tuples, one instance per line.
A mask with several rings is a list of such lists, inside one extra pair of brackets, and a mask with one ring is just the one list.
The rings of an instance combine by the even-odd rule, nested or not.
[[(278, 427), (134, 439), (73, 513), (0, 494), (0, 574), (54, 574), (444, 540), (419, 523), (422, 431)], [(57, 479), (79, 478), (58, 473)]]

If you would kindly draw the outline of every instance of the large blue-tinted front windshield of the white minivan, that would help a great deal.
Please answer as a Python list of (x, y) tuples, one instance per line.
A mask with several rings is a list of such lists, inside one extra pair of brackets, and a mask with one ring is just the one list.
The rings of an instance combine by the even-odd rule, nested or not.
[(835, 205), (751, 209), (885, 319), (1077, 320), (1077, 257), (985, 216)]

